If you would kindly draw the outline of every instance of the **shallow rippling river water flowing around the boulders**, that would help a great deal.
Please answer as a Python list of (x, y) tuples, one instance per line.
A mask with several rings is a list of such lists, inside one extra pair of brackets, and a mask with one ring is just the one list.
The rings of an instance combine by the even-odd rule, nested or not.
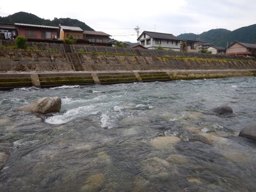
[[(18, 110), (42, 97), (61, 111)], [(256, 142), (238, 136), (255, 103), (256, 77), (1, 91), (0, 191), (256, 191)]]

